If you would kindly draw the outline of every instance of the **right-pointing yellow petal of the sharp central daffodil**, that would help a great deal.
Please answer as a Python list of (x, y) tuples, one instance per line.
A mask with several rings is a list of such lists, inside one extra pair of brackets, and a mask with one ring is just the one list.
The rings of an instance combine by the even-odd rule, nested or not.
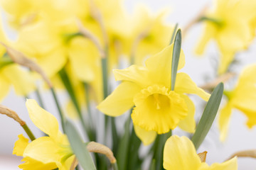
[(177, 74), (174, 91), (176, 91), (178, 94), (196, 94), (205, 101), (208, 101), (210, 98), (210, 94), (196, 86), (188, 74), (183, 72)]

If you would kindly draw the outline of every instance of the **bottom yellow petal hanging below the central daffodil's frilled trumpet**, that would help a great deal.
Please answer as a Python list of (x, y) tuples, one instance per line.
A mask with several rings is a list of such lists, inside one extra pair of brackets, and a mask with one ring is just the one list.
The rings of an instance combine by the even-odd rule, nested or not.
[(157, 133), (155, 131), (147, 131), (143, 128), (140, 128), (138, 125), (134, 125), (134, 131), (139, 137), (140, 140), (142, 140), (143, 145), (150, 145), (154, 140), (156, 139)]

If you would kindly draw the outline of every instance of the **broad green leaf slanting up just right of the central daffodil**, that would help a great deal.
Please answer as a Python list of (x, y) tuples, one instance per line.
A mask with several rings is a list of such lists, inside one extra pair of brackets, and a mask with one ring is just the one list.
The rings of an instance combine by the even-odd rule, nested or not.
[(220, 101), (223, 96), (223, 89), (223, 83), (218, 84), (218, 86), (216, 86), (213, 90), (213, 93), (211, 94), (210, 99), (206, 104), (206, 108), (204, 109), (201, 120), (199, 121), (196, 128), (196, 132), (191, 139), (196, 149), (200, 147), (204, 138), (208, 134), (211, 125), (213, 124), (213, 120), (215, 119), (215, 116), (218, 112)]

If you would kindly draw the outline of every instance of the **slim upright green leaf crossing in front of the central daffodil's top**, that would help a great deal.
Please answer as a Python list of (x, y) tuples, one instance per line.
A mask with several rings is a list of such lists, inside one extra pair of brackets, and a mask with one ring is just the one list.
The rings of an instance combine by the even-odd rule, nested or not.
[(181, 29), (178, 29), (174, 40), (174, 51), (171, 60), (171, 90), (174, 91), (176, 74), (178, 71), (178, 60), (181, 55)]

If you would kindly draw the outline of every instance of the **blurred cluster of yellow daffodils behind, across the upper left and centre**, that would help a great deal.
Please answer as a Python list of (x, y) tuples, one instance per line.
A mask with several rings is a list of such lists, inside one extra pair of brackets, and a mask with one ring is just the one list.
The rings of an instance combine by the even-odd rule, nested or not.
[[(55, 86), (63, 87), (58, 72), (65, 69), (80, 104), (85, 101), (81, 95), (82, 82), (90, 84), (96, 101), (102, 101), (102, 50), (107, 48), (109, 70), (118, 67), (122, 56), (132, 56), (131, 60), (142, 64), (147, 55), (169, 44), (173, 32), (164, 23), (163, 12), (152, 16), (140, 6), (128, 16), (123, 1), (119, 0), (1, 0), (0, 3), (18, 33), (13, 46), (36, 60)], [(89, 35), (81, 35), (78, 23)]]

